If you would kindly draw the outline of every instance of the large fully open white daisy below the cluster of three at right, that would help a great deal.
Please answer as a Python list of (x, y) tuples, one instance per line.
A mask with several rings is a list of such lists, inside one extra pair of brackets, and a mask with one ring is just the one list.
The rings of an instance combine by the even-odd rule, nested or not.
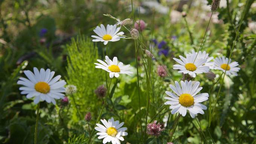
[(165, 97), (165, 99), (169, 100), (165, 102), (165, 105), (171, 105), (169, 109), (172, 109), (171, 114), (176, 114), (179, 112), (183, 117), (187, 114), (187, 110), (192, 118), (195, 117), (196, 114), (204, 114), (203, 109), (207, 109), (207, 107), (200, 102), (204, 102), (208, 100), (208, 93), (197, 94), (201, 91), (202, 87), (199, 87), (200, 82), (195, 82), (194, 85), (192, 81), (189, 82), (185, 80), (183, 82), (181, 80), (180, 84), (175, 81), (175, 86), (170, 85), (172, 93), (170, 91), (165, 91), (165, 93), (170, 97)]

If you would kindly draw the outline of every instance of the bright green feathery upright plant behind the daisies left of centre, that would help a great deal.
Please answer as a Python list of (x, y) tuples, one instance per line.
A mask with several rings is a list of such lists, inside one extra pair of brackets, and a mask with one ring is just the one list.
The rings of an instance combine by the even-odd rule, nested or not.
[[(102, 70), (96, 69), (94, 62), (99, 59), (98, 48), (93, 42), (82, 35), (73, 38), (71, 44), (67, 45), (67, 83), (75, 85), (78, 91), (73, 95), (76, 106), (72, 102), (73, 121), (77, 121), (78, 107), (80, 117), (84, 117), (90, 109), (97, 113), (98, 105), (101, 105), (98, 97), (94, 94), (100, 84), (102, 77), (105, 76)], [(71, 99), (72, 100), (72, 99)]]

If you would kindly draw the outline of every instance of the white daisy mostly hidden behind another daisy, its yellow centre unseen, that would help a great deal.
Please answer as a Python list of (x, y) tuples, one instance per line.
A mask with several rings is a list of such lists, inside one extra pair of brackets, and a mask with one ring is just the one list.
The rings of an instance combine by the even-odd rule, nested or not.
[[(197, 52), (192, 50), (192, 53), (189, 53), (189, 55), (197, 55)], [(206, 59), (207, 61), (203, 65), (208, 66), (210, 69), (214, 69), (213, 68), (214, 62), (211, 62), (213, 59), (213, 56), (209, 57), (209, 54), (206, 53), (206, 51), (204, 52), (199, 51), (196, 59)]]

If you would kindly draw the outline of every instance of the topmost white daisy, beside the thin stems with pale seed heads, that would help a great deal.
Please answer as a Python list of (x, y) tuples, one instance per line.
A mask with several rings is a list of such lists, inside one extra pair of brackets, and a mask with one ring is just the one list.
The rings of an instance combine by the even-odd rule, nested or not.
[(93, 39), (93, 41), (101, 41), (104, 42), (104, 45), (108, 43), (108, 41), (119, 41), (120, 38), (124, 38), (123, 35), (124, 32), (117, 33), (121, 27), (116, 27), (116, 24), (113, 25), (107, 25), (107, 30), (105, 29), (105, 26), (101, 24), (101, 27), (97, 26), (96, 29), (93, 31), (98, 35), (92, 35), (91, 37), (96, 38)]

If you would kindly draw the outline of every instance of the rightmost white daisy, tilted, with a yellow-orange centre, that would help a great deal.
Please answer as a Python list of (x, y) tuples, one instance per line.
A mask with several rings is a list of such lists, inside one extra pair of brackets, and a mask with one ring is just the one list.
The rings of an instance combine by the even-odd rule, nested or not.
[[(239, 67), (236, 67), (239, 65), (238, 62), (231, 62), (231, 59), (229, 60), (229, 58), (225, 58), (224, 56), (219, 56), (218, 58), (215, 58), (213, 61), (215, 70), (222, 70), (223, 72), (225, 72), (226, 70), (226, 74), (229, 76), (238, 75), (236, 73), (240, 70)], [(229, 64), (227, 63), (228, 61)]]

